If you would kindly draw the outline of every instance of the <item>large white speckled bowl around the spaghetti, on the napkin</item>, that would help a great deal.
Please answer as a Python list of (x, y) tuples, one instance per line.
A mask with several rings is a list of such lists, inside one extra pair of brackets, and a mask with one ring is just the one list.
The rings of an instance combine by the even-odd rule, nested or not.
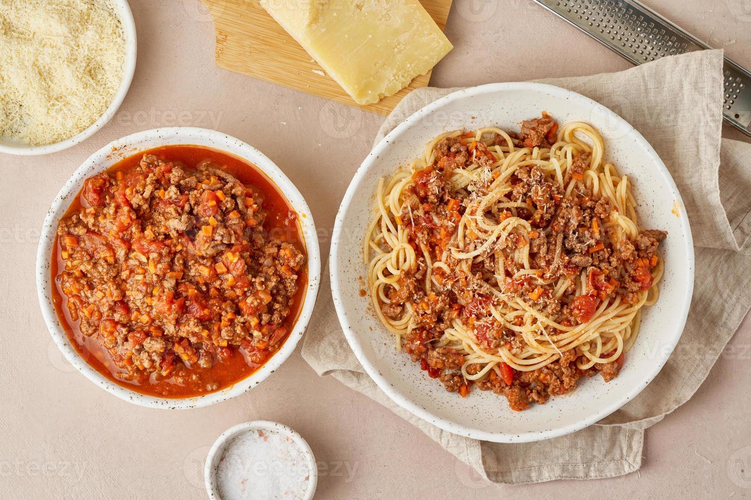
[[(609, 383), (601, 377), (524, 412), (508, 408), (505, 397), (476, 388), (469, 397), (445, 391), (418, 364), (394, 349), (369, 296), (361, 297), (363, 237), (372, 217), (379, 178), (421, 154), (424, 145), (446, 130), (497, 125), (519, 130), (518, 123), (542, 110), (560, 123), (586, 121), (605, 139), (605, 159), (629, 175), (641, 222), (665, 229), (665, 277), (660, 298), (648, 307), (626, 365)], [(691, 229), (680, 193), (649, 142), (623, 118), (580, 94), (538, 83), (497, 83), (454, 92), (430, 103), (395, 128), (373, 148), (354, 175), (336, 216), (330, 254), (333, 301), (354, 354), (394, 402), (425, 421), (474, 439), (528, 442), (580, 430), (610, 415), (635, 397), (657, 375), (674, 349), (686, 316), (694, 281)]]

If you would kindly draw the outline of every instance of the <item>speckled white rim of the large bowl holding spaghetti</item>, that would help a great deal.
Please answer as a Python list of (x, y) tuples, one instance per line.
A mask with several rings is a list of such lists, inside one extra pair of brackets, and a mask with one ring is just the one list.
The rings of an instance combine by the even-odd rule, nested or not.
[[(532, 442), (574, 433), (578, 430), (584, 429), (584, 427), (602, 420), (602, 418), (605, 418), (611, 413), (615, 412), (617, 409), (620, 409), (621, 406), (628, 403), (644, 388), (647, 387), (649, 382), (651, 382), (657, 376), (659, 371), (662, 370), (662, 367), (665, 365), (665, 362), (667, 362), (668, 357), (665, 356), (664, 358), (658, 358), (653, 364), (652, 369), (645, 371), (643, 383), (635, 385), (630, 391), (625, 391), (623, 396), (620, 397), (620, 399), (615, 403), (603, 406), (599, 409), (599, 411), (593, 412), (585, 418), (581, 418), (581, 420), (576, 421), (574, 424), (522, 433), (488, 432), (481, 429), (473, 429), (472, 427), (468, 427), (464, 424), (453, 421), (450, 418), (444, 418), (440, 415), (436, 415), (436, 413), (425, 409), (423, 406), (409, 399), (409, 397), (400, 394), (400, 392), (397, 391), (397, 388), (395, 388), (394, 385), (391, 385), (391, 382), (389, 382), (389, 380), (384, 375), (382, 375), (378, 368), (375, 367), (375, 365), (372, 364), (372, 362), (369, 360), (369, 358), (363, 351), (363, 347), (360, 345), (363, 340), (358, 338), (357, 332), (354, 331), (351, 326), (348, 313), (357, 316), (362, 315), (364, 311), (348, 311), (345, 309), (345, 301), (342, 297), (342, 285), (341, 283), (339, 283), (339, 242), (343, 241), (339, 236), (345, 234), (346, 232), (345, 228), (342, 226), (344, 223), (345, 214), (348, 211), (352, 199), (357, 196), (357, 187), (361, 182), (363, 182), (369, 172), (369, 169), (375, 165), (375, 163), (379, 160), (379, 157), (384, 154), (384, 151), (390, 148), (391, 145), (397, 141), (400, 135), (402, 135), (410, 127), (419, 124), (419, 122), (423, 120), (430, 122), (431, 113), (439, 111), (443, 106), (451, 103), (451, 101), (464, 97), (472, 97), (482, 94), (493, 94), (501, 91), (547, 92), (548, 94), (559, 98), (562, 102), (566, 100), (578, 101), (579, 103), (586, 103), (592, 109), (600, 109), (607, 112), (608, 117), (617, 123), (617, 128), (619, 130), (628, 130), (629, 137), (631, 137), (641, 148), (644, 148), (644, 152), (648, 155), (648, 157), (650, 157), (650, 161), (653, 164), (654, 168), (658, 169), (659, 172), (665, 177), (668, 183), (668, 187), (671, 189), (673, 195), (675, 196), (675, 199), (680, 202), (680, 206), (685, 206), (683, 204), (683, 199), (680, 197), (678, 188), (675, 185), (670, 172), (668, 172), (668, 169), (665, 166), (665, 163), (662, 162), (652, 145), (647, 142), (647, 139), (644, 139), (644, 136), (642, 136), (641, 133), (638, 132), (638, 130), (632, 127), (631, 124), (617, 115), (611, 109), (605, 108), (604, 106), (602, 106), (602, 104), (597, 103), (589, 97), (585, 97), (584, 95), (569, 91), (565, 88), (559, 88), (554, 85), (534, 82), (490, 83), (487, 85), (478, 85), (476, 87), (464, 88), (462, 90), (448, 94), (445, 97), (440, 98), (439, 100), (433, 101), (433, 103), (424, 106), (424, 108), (419, 109), (414, 114), (410, 115), (409, 118), (395, 127), (394, 130), (391, 130), (391, 133), (388, 133), (388, 135), (385, 136), (385, 138), (382, 139), (381, 142), (379, 142), (377, 145), (375, 145), (374, 148), (372, 148), (370, 154), (368, 154), (365, 160), (363, 160), (363, 163), (357, 169), (357, 172), (355, 172), (354, 178), (352, 178), (352, 181), (349, 184), (344, 199), (342, 199), (342, 204), (339, 206), (339, 211), (337, 211), (336, 213), (336, 220), (334, 222), (333, 238), (329, 253), (331, 294), (333, 296), (333, 303), (334, 308), (336, 309), (336, 314), (339, 317), (339, 323), (342, 325), (342, 330), (344, 331), (345, 337), (347, 338), (349, 346), (354, 352), (354, 355), (357, 357), (357, 360), (360, 361), (360, 364), (363, 366), (366, 373), (368, 373), (368, 375), (373, 379), (373, 381), (375, 381), (379, 388), (381, 388), (381, 390), (384, 391), (385, 394), (387, 394), (388, 397), (390, 397), (391, 400), (394, 401), (394, 403), (397, 403), (397, 405), (401, 406), (403, 409), (408, 410), (413, 415), (422, 418), (424, 421), (436, 425), (442, 430), (446, 430), (450, 433), (458, 434), (460, 436), (501, 443)], [(523, 118), (527, 117), (520, 117), (520, 120)], [(623, 127), (623, 129), (621, 127)], [(436, 132), (436, 134), (437, 133), (438, 132)], [(421, 146), (422, 145), (418, 145), (416, 146), (416, 148), (420, 148)], [(370, 193), (368, 193), (368, 196), (369, 194)], [(362, 193), (360, 193), (360, 196), (362, 196)], [(686, 269), (685, 271), (686, 294), (683, 296), (682, 303), (675, 304), (675, 307), (677, 307), (680, 311), (678, 313), (680, 322), (676, 322), (674, 324), (673, 331), (664, 332), (663, 334), (663, 337), (665, 339), (664, 345), (669, 348), (669, 352), (672, 352), (674, 350), (675, 346), (678, 343), (678, 340), (680, 340), (681, 334), (683, 333), (683, 327), (686, 325), (686, 318), (688, 317), (693, 293), (694, 252), (688, 217), (681, 217), (681, 224), (683, 226), (685, 242), (687, 245), (686, 253), (688, 259), (688, 269)]]

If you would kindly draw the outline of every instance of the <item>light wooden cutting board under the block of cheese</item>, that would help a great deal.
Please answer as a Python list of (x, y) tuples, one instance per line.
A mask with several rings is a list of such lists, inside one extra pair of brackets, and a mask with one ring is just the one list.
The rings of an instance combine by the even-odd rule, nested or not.
[[(260, 0), (201, 0), (216, 28), (216, 64), (269, 82), (387, 115), (406, 94), (427, 86), (430, 72), (375, 104), (360, 106), (313, 61), (308, 52), (271, 17)], [(420, 0), (441, 29), (451, 0)]]

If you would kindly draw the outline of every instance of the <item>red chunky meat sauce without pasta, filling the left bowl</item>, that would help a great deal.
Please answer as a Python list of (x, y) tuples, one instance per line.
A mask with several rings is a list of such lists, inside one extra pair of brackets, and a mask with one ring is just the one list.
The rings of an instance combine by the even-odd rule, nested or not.
[(306, 289), (296, 212), (255, 166), (170, 145), (86, 179), (57, 231), (53, 301), (80, 355), (142, 394), (219, 391), (285, 342)]

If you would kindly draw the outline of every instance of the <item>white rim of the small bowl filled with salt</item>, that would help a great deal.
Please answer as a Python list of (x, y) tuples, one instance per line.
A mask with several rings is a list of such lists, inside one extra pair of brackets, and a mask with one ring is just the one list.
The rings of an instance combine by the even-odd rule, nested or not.
[(231, 442), (236, 436), (241, 433), (246, 433), (249, 430), (268, 430), (270, 432), (282, 433), (288, 436), (296, 445), (300, 447), (305, 455), (308, 463), (308, 470), (310, 475), (308, 477), (308, 490), (303, 497), (303, 500), (312, 500), (315, 495), (315, 488), (318, 487), (318, 465), (315, 463), (315, 455), (313, 454), (310, 445), (300, 436), (297, 431), (285, 424), (279, 424), (279, 422), (272, 422), (267, 420), (254, 420), (250, 422), (243, 422), (237, 424), (234, 427), (230, 427), (219, 436), (206, 457), (206, 465), (204, 466), (204, 481), (206, 481), (206, 491), (209, 494), (210, 500), (222, 500), (219, 496), (219, 488), (216, 485), (216, 469), (219, 467), (219, 459), (222, 457), (222, 451), (225, 446)]

